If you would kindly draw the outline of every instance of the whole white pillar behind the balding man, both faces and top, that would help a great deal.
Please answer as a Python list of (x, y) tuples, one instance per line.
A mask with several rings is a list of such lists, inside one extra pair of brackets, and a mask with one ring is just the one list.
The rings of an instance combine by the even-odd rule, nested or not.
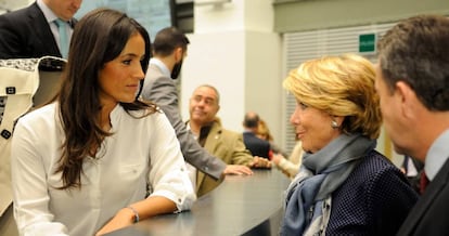
[(245, 112), (254, 110), (281, 141), (281, 39), (272, 31), (271, 0), (232, 0), (194, 6), (182, 67), (181, 112), (189, 118), (189, 99), (203, 83), (221, 95), (218, 116), (227, 129), (242, 131)]

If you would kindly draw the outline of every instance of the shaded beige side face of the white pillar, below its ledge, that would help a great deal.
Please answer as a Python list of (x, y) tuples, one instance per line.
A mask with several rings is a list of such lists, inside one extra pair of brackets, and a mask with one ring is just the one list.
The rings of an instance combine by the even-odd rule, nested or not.
[(282, 146), (281, 37), (248, 31), (246, 45), (245, 110), (257, 112), (268, 123), (275, 143)]

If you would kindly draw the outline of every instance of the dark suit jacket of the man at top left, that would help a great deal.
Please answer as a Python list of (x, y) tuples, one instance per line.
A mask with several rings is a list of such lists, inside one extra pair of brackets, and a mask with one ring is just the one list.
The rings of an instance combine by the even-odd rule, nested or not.
[[(75, 24), (75, 19), (72, 21)], [(61, 56), (50, 25), (37, 3), (0, 15), (0, 58)]]

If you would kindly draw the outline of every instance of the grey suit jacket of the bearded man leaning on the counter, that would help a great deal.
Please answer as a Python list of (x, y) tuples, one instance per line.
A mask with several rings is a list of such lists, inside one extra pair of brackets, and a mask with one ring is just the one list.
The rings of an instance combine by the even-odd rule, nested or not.
[(227, 165), (201, 147), (187, 130), (179, 113), (178, 91), (174, 80), (165, 76), (156, 65), (150, 64), (141, 94), (143, 99), (156, 103), (170, 120), (185, 161), (215, 180), (220, 179)]

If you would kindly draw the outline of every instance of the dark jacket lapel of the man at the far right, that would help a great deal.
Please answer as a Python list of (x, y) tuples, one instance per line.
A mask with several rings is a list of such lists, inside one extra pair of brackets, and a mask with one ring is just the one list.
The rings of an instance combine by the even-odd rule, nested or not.
[(406, 221), (402, 223), (398, 235), (412, 235), (420, 221), (426, 218), (427, 210), (431, 208), (434, 199), (446, 187), (449, 180), (449, 159), (446, 160), (435, 179), (427, 185), (424, 194), (409, 212)]

